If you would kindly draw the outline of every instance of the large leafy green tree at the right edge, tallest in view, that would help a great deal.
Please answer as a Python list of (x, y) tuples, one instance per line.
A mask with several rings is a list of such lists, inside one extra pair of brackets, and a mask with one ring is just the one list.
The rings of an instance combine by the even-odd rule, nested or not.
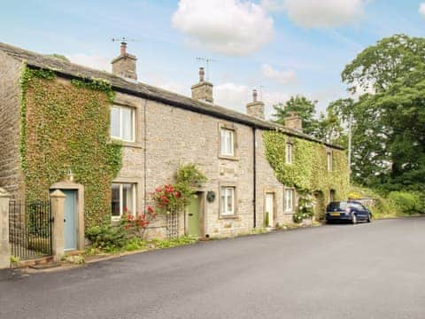
[(331, 107), (339, 121), (352, 114), (352, 171), (360, 183), (424, 189), (424, 72), (425, 39), (407, 35), (384, 38), (345, 66), (349, 89), (369, 90)]

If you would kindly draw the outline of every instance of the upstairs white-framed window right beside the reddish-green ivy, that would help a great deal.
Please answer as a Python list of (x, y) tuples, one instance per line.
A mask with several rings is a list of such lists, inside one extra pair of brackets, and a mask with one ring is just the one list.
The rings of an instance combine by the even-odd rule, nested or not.
[(113, 105), (111, 107), (111, 137), (126, 142), (135, 141), (135, 109)]

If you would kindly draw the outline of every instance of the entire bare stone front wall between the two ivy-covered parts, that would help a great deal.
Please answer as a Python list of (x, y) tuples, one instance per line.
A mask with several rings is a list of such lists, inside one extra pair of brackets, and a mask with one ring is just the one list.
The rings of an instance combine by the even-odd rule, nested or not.
[[(135, 143), (124, 144), (123, 165), (115, 181), (137, 184), (139, 212), (143, 212), (145, 206), (144, 157), (146, 156), (147, 205), (151, 204), (151, 191), (159, 185), (174, 183), (174, 174), (181, 164), (195, 163), (208, 178), (208, 181), (198, 190), (204, 197), (204, 235), (226, 237), (247, 232), (253, 228), (251, 127), (120, 93), (117, 94), (116, 103), (135, 108), (137, 123)], [(221, 126), (231, 127), (236, 131), (235, 159), (220, 157)], [(146, 155), (144, 144), (146, 144)], [(274, 193), (275, 224), (291, 222), (292, 214), (285, 213), (283, 209), (284, 186), (277, 181), (273, 168), (268, 164), (260, 129), (256, 131), (256, 144), (257, 227), (263, 227), (267, 192)], [(236, 186), (235, 218), (220, 217), (220, 185)], [(206, 200), (207, 191), (214, 191), (216, 194), (212, 203)], [(180, 233), (184, 234), (183, 214), (180, 216), (179, 224)], [(165, 216), (160, 216), (151, 224), (148, 234), (149, 237), (166, 237)]]

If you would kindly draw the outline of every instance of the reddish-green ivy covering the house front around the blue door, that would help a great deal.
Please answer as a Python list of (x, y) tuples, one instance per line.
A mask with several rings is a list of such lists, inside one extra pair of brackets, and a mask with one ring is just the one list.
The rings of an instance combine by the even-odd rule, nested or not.
[(111, 221), (111, 183), (121, 167), (120, 144), (109, 137), (111, 85), (71, 82), (49, 70), (24, 68), (21, 78), (21, 164), (29, 201), (48, 198), (66, 178), (85, 187), (86, 228)]

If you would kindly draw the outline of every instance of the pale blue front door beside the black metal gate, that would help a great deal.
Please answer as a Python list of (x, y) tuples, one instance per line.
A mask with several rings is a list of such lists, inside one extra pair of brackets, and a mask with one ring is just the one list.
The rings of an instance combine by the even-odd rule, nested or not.
[(65, 250), (77, 249), (77, 191), (63, 190), (65, 198)]

